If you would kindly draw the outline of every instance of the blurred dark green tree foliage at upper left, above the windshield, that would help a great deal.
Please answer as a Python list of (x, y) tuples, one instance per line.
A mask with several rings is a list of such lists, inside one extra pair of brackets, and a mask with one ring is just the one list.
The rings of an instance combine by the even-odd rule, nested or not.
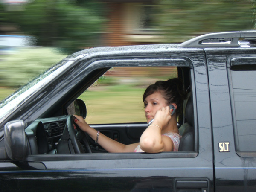
[(99, 44), (105, 21), (99, 1), (31, 0), (19, 11), (7, 11), (9, 22), (37, 38), (38, 46), (62, 48), (73, 53)]

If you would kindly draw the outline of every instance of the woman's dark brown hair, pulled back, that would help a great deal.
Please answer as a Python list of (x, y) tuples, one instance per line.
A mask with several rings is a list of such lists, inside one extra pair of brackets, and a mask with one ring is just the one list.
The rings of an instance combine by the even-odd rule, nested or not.
[(143, 94), (143, 102), (146, 97), (160, 91), (163, 98), (166, 99), (168, 104), (175, 103), (177, 105), (176, 116), (182, 114), (183, 101), (187, 97), (187, 93), (183, 89), (183, 81), (180, 78), (173, 78), (167, 81), (157, 81), (154, 84), (148, 86)]

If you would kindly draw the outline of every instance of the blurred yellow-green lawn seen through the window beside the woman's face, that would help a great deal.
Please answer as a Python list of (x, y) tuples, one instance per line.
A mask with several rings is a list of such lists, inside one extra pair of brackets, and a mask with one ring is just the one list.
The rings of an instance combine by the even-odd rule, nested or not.
[(145, 122), (145, 88), (129, 85), (98, 86), (83, 93), (89, 124)]

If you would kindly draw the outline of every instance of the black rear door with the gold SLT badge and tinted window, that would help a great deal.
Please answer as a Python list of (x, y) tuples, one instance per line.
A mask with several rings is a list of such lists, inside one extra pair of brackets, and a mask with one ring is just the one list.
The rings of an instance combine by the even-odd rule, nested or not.
[(255, 49), (206, 49), (216, 191), (255, 191)]

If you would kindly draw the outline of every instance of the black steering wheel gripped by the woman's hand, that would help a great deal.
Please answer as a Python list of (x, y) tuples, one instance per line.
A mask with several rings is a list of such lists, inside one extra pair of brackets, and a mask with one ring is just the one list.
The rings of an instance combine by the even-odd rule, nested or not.
[[(67, 123), (65, 125), (63, 134), (61, 136), (61, 140), (58, 142), (58, 145), (57, 145), (58, 154), (85, 153), (83, 146), (81, 145), (78, 138), (76, 137), (76, 132), (74, 129), (75, 119), (76, 117), (73, 115), (67, 116)], [(85, 135), (84, 131), (81, 131), (81, 129), (77, 125), (76, 125), (76, 128), (80, 135), (84, 134), (83, 137), (80, 137), (80, 138), (82, 138), (82, 141), (87, 150), (86, 152), (91, 153), (92, 151), (91, 151), (87, 136)]]

